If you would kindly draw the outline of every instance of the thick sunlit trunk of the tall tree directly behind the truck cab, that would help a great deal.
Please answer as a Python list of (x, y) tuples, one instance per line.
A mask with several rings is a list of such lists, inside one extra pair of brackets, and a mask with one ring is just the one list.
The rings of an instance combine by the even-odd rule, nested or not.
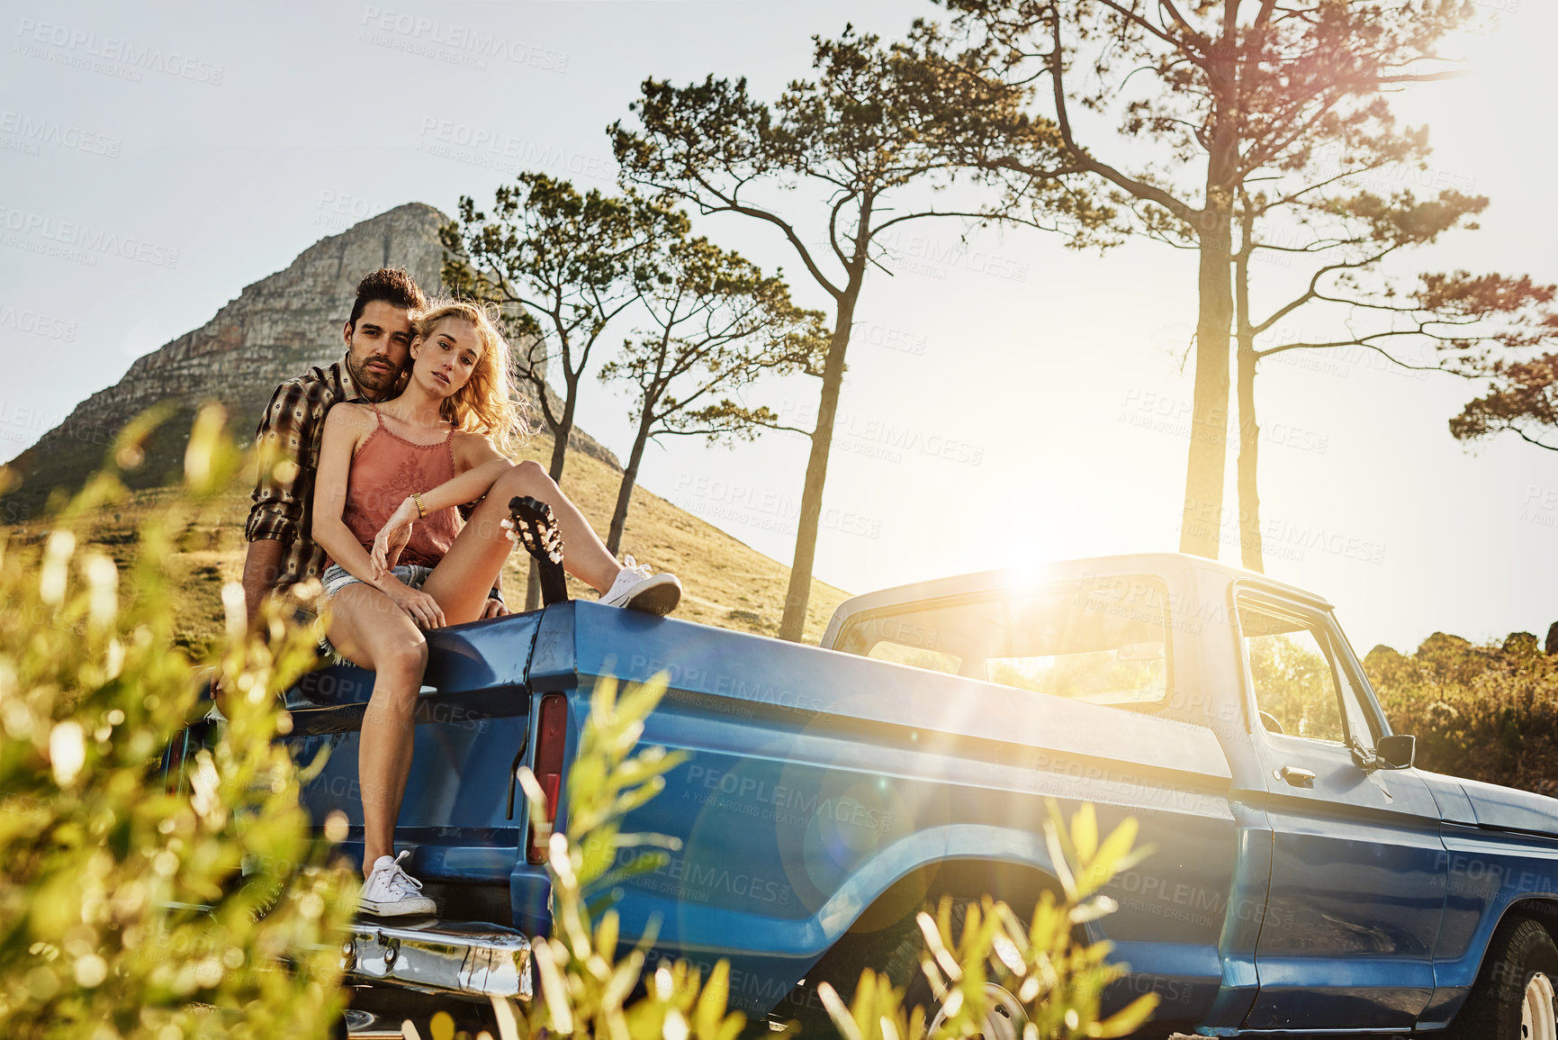
[(1234, 317), (1229, 264), (1232, 220), (1226, 189), (1209, 187), (1201, 214), (1195, 326), (1195, 399), (1190, 404), (1190, 452), (1184, 474), (1179, 552), (1217, 558), (1223, 518), (1223, 469), (1228, 454), (1228, 332)]

